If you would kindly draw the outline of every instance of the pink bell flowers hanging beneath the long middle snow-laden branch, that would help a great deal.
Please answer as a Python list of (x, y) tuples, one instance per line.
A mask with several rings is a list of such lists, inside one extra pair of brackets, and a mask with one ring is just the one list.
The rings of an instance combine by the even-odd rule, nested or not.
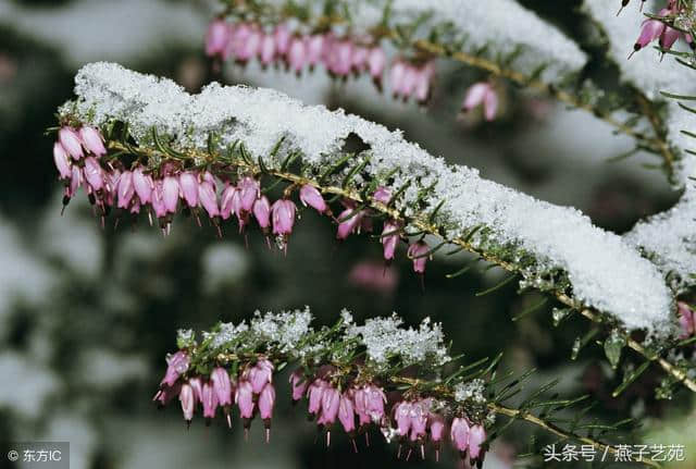
[[(172, 226), (172, 217), (182, 210), (192, 214), (199, 225), (200, 217), (207, 214), (220, 235), (222, 221), (236, 219), (239, 233), (243, 233), (253, 220), (264, 234), (274, 236), (281, 249), (287, 249), (287, 239), (297, 219), (297, 205), (290, 199), (295, 189), (304, 207), (333, 217), (321, 192), (310, 184), (299, 187), (290, 185), (282, 198), (271, 202), (263, 194), (258, 174), (245, 173), (232, 178), (229, 174), (234, 168), (215, 168), (213, 172), (196, 171), (175, 159), (160, 161), (152, 168), (138, 161), (127, 166), (117, 158), (108, 158), (104, 139), (95, 127), (82, 126), (76, 131), (62, 126), (58, 134), (53, 159), (59, 177), (65, 182), (63, 205), (67, 205), (83, 186), (90, 202), (99, 208), (102, 224), (113, 209), (117, 217), (128, 213), (136, 215), (146, 210), (150, 223), (152, 217), (157, 218), (162, 233), (166, 235)], [(83, 149), (88, 153), (87, 157)], [(391, 193), (385, 187), (377, 187), (372, 198), (387, 205)], [(341, 200), (341, 207), (338, 217), (334, 218), (338, 240), (355, 233), (373, 231), (376, 212), (357, 207), (349, 199)], [(406, 240), (402, 224), (391, 219), (384, 221), (380, 238), (384, 259), (390, 262), (399, 240)], [(425, 272), (430, 252), (431, 249), (422, 240), (410, 245), (408, 256), (417, 273)]]

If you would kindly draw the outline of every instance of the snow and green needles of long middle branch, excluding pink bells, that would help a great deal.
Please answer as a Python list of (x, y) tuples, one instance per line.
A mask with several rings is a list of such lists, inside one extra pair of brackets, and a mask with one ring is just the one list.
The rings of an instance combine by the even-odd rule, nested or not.
[[(134, 145), (149, 148), (151, 171), (169, 156), (192, 159), (204, 171), (240, 145), (245, 160), (279, 178), (297, 168), (288, 163), (293, 160), (299, 174), (286, 181), (301, 178), (325, 193), (352, 194), (363, 203), (356, 211), (369, 206), (398, 215), (407, 222), (407, 235), (437, 226), (447, 242), (520, 273), (523, 287), (571, 295), (577, 305), (611, 313), (630, 329), (669, 329), (669, 288), (656, 267), (620, 236), (594, 226), (573, 208), (483, 180), (473, 169), (448, 165), (400, 132), (341, 110), (306, 107), (270, 89), (213, 83), (191, 96), (169, 79), (111, 63), (86, 65), (76, 84), (77, 99), (60, 110), (63, 125), (99, 126), (109, 138), (115, 123), (126, 124), (134, 143), (119, 147), (125, 151), (117, 156), (136, 153)], [(341, 147), (350, 135), (369, 149), (345, 153)], [(391, 194), (386, 201), (369, 196), (380, 186)]]

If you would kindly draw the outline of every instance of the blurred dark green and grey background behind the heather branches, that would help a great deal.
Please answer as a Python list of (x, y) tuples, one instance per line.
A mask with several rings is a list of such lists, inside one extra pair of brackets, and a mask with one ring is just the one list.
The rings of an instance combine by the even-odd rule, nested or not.
[[(588, 76), (616, 86), (616, 70), (589, 40), (577, 0), (523, 3), (582, 42), (591, 54)], [(651, 388), (660, 375), (651, 370), (612, 399), (621, 377), (602, 360), (599, 347), (588, 346), (570, 360), (573, 341), (587, 331), (583, 320), (552, 328), (549, 301), (511, 321), (540, 297), (517, 295), (514, 283), (476, 297), (504, 273), (481, 264), (447, 280), (445, 274), (458, 270), (467, 256), (438, 256), (427, 267), (423, 292), (401, 251), (390, 268), (394, 284), (374, 289), (351, 280), (351, 272), (359, 266), (381, 271), (380, 244), (353, 236), (339, 245), (334, 226), (309, 212), (297, 225), (287, 257), (270, 251), (258, 232), (249, 233), (246, 247), (234, 229), (221, 240), (184, 218), (175, 220), (166, 238), (145, 222), (102, 230), (84, 197), (61, 217), (52, 141), (44, 131), (54, 125), (57, 107), (71, 98), (76, 70), (90, 61), (117, 61), (197, 91), (213, 76), (202, 36), (214, 11), (214, 2), (190, 0), (0, 0), (1, 441), (70, 441), (74, 469), (435, 467), (432, 460), (398, 461), (395, 446), (376, 437), (360, 454), (345, 437), (326, 449), (313, 424), (303, 421), (301, 406), (290, 408), (289, 399), (278, 399), (271, 446), (262, 444), (258, 422), (245, 444), (240, 425), (231, 432), (222, 422), (204, 428), (199, 420), (186, 431), (176, 405), (165, 411), (151, 405), (164, 355), (175, 348), (176, 329), (206, 329), (217, 320), (249, 318), (256, 309), (309, 305), (319, 323), (335, 321), (344, 307), (357, 319), (397, 311), (414, 324), (431, 316), (443, 322), (455, 351), (465, 353), (468, 360), (504, 350), (504, 369), (538, 369), (527, 390), (560, 378), (557, 391), (563, 396), (591, 393), (597, 399), (591, 417), (635, 417), (646, 441), (684, 444), (689, 461), (681, 467), (696, 466), (691, 396), (655, 400)], [(478, 168), (484, 177), (538, 198), (573, 205), (619, 233), (676, 199), (661, 174), (641, 166), (651, 162), (648, 157), (608, 163), (631, 141), (582, 111), (508, 89), (499, 121), (457, 119), (465, 88), (484, 76), (451, 63), (439, 65), (426, 109), (393, 101), (366, 78), (337, 83), (321, 70), (298, 79), (256, 64), (227, 65), (216, 78), (273, 87), (401, 128), (407, 138), (452, 163)], [(525, 424), (513, 425), (495, 442), (485, 467), (512, 467), (514, 455), (526, 453), (535, 434)], [(453, 467), (453, 455), (445, 453), (440, 466)], [(0, 467), (8, 464), (0, 455)], [(517, 465), (552, 467), (538, 458)]]

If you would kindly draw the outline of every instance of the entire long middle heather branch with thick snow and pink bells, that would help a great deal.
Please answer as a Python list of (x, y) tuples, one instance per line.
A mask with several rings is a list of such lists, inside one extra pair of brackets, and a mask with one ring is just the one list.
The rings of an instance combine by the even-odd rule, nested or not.
[[(407, 242), (422, 274), (434, 251), (453, 245), (521, 275), (522, 288), (592, 312), (623, 336), (645, 328), (669, 343), (670, 294), (655, 267), (620, 238), (587, 226), (574, 211), (447, 166), (384, 127), (269, 91), (214, 85), (192, 97), (171, 82), (111, 64), (88, 65), (77, 83), (80, 98), (61, 109), (54, 159), (65, 202), (84, 186), (102, 223), (112, 208), (119, 218), (149, 208), (166, 234), (181, 201), (199, 223), (207, 214), (220, 234), (225, 220), (236, 218), (243, 231), (253, 218), (286, 249), (297, 210), (291, 195), (299, 190), (303, 205), (326, 215), (340, 201), (338, 239), (383, 222), (378, 238), (387, 261)], [(100, 131), (89, 125), (101, 126), (105, 148)], [(350, 133), (370, 149), (341, 152)], [(282, 183), (288, 185), (271, 205), (270, 190)], [(431, 248), (425, 235), (443, 242)], [(636, 351), (650, 360), (659, 355)], [(694, 388), (675, 367), (658, 362)]]

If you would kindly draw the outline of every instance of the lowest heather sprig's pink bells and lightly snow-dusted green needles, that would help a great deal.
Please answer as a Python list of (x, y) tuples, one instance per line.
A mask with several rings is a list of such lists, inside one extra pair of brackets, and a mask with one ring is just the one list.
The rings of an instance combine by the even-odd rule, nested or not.
[[(364, 434), (369, 439), (370, 429), (377, 428), (387, 441), (398, 439), (399, 455), (407, 445), (407, 458), (413, 451), (425, 458), (425, 447), (431, 445), (438, 459), (440, 445), (449, 434), (462, 458), (468, 455), (472, 462), (483, 461), (486, 400), (462, 397), (457, 390), (467, 383), (461, 380), (443, 384), (442, 365), (447, 360), (430, 354), (414, 358), (413, 344), (428, 340), (442, 348), (435, 350), (435, 356), (447, 355), (438, 325), (431, 329), (430, 321), (425, 321), (419, 331), (413, 331), (401, 328), (397, 317), (380, 320), (391, 322), (378, 326), (381, 331), (393, 331), (391, 343), (403, 332), (420, 335), (420, 341), (394, 348), (389, 366), (385, 367), (383, 357), (373, 356), (373, 349), (362, 338), (371, 334), (374, 322), (360, 326), (361, 335), (356, 335), (350, 331), (356, 325), (347, 311), (333, 328), (315, 331), (310, 321), (308, 309), (257, 313), (249, 324), (219, 324), (203, 334), (200, 344), (191, 331), (181, 331), (179, 350), (167, 357), (166, 372), (153, 400), (165, 406), (178, 398), (188, 424), (197, 411), (209, 424), (221, 409), (232, 427), (233, 414), (238, 411), (247, 435), (258, 416), (268, 442), (276, 403), (274, 373), (297, 362), (298, 368), (289, 377), (291, 400), (307, 402), (310, 417), (326, 433), (327, 445), (334, 427), (343, 428), (356, 451), (357, 436)], [(433, 338), (433, 331), (437, 331), (437, 340)], [(389, 341), (384, 332), (382, 337)], [(288, 347), (290, 343), (293, 347)], [(408, 374), (403, 371), (407, 367)], [(472, 383), (480, 386), (480, 380)]]

